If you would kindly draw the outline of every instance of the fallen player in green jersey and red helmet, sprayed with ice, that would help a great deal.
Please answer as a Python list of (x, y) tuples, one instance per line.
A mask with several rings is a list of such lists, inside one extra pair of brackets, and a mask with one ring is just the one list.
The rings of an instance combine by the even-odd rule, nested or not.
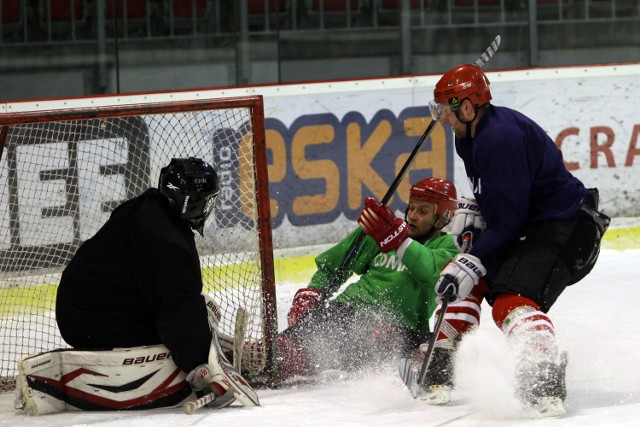
[(411, 187), (405, 220), (365, 199), (358, 223), (368, 236), (336, 278), (349, 284), (318, 306), (362, 230), (320, 254), (309, 287), (294, 296), (289, 327), (278, 337), (281, 379), (359, 370), (415, 352), (429, 333), (440, 271), (458, 253), (442, 231), (456, 206), (455, 186), (436, 178)]

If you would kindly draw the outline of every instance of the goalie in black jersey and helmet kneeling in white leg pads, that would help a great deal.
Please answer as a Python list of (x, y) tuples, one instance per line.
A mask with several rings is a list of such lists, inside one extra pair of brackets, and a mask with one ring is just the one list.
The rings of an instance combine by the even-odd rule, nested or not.
[[(181, 404), (193, 391), (225, 396), (224, 404), (217, 399), (211, 406), (236, 399), (258, 404), (222, 354), (217, 319), (210, 322), (215, 316), (201, 294), (194, 231), (203, 233), (219, 191), (211, 165), (172, 159), (158, 188), (122, 203), (80, 246), (62, 274), (56, 321), (65, 341), (83, 354), (65, 350), (21, 360), (17, 408), (35, 414), (146, 409)], [(212, 301), (209, 311), (216, 311)], [(66, 382), (80, 368), (92, 374)], [(124, 393), (136, 380), (141, 385)], [(83, 389), (87, 381), (93, 387)]]

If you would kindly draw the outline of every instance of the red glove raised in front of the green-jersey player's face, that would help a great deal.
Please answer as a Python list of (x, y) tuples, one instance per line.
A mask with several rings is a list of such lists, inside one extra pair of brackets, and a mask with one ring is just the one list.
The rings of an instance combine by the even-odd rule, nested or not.
[(375, 199), (364, 199), (364, 209), (358, 224), (376, 241), (382, 252), (397, 249), (409, 234), (407, 223), (398, 218), (388, 206), (382, 206)]

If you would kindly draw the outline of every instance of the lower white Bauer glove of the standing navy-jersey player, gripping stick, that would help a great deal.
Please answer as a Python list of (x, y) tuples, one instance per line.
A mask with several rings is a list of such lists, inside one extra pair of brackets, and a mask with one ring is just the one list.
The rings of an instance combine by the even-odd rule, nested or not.
[(485, 274), (487, 270), (477, 257), (469, 254), (456, 255), (442, 269), (436, 283), (438, 301), (448, 298), (450, 303), (456, 303), (465, 299)]

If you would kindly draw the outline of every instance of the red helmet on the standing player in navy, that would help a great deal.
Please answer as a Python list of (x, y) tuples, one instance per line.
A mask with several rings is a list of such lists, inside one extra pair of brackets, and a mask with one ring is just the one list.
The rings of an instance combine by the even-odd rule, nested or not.
[(491, 101), (489, 79), (477, 65), (459, 65), (436, 83), (433, 98), (437, 104), (448, 102), (452, 109), (467, 98), (473, 105), (482, 106)]

